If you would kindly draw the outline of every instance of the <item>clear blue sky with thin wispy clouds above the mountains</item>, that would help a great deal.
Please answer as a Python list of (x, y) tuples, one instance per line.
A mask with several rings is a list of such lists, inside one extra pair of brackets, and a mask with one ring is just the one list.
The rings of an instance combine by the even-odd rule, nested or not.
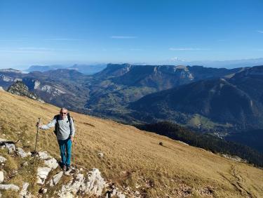
[(262, 0), (0, 0), (0, 68), (262, 58), (262, 10)]

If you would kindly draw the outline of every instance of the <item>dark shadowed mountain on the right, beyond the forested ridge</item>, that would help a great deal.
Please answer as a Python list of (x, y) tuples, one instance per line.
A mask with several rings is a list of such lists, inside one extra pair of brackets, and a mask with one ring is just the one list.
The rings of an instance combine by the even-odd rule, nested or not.
[[(148, 121), (172, 119), (189, 124), (191, 119), (199, 115), (203, 119), (210, 119), (210, 123), (214, 122), (218, 128), (224, 126), (220, 131), (227, 128), (230, 128), (228, 131), (262, 128), (262, 76), (255, 78), (248, 75), (242, 78), (243, 73), (246, 71), (229, 80), (205, 79), (152, 93), (131, 103), (130, 108), (138, 119), (144, 119), (140, 115), (147, 114)], [(209, 124), (205, 126), (201, 121), (196, 123), (209, 127)]]

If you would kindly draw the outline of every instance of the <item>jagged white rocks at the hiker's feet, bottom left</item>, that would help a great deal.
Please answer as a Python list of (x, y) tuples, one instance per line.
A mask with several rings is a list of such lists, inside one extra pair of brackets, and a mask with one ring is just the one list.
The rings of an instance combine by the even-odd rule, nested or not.
[[(36, 169), (36, 183), (39, 186), (39, 197), (42, 197), (42, 194), (47, 194), (45, 196), (53, 196), (60, 198), (68, 197), (119, 197), (125, 198), (126, 194), (128, 197), (140, 197), (140, 192), (132, 192), (129, 187), (124, 189), (124, 192), (121, 192), (118, 187), (115, 187), (114, 183), (104, 180), (99, 169), (93, 168), (91, 171), (86, 171), (83, 168), (77, 169), (72, 167), (69, 171), (58, 171), (58, 161), (50, 156), (48, 152), (38, 152), (31, 155), (30, 152), (25, 152), (22, 148), (15, 146), (15, 142), (0, 139), (1, 148), (6, 149), (10, 153), (11, 157), (19, 157), (24, 163), (29, 164), (28, 160), (39, 160), (40, 167)], [(10, 151), (10, 152), (9, 152)], [(103, 157), (103, 153), (100, 152)], [(0, 156), (1, 167), (4, 169), (7, 159)], [(21, 165), (25, 166), (25, 165)], [(6, 171), (0, 171), (0, 190), (13, 190), (14, 193), (18, 193), (20, 198), (30, 198), (36, 197), (36, 194), (33, 194), (28, 190), (29, 185), (34, 185), (34, 183), (22, 183), (21, 186), (8, 183), (8, 178), (10, 176), (4, 177)], [(19, 171), (16, 171), (15, 174), (19, 174)], [(71, 178), (69, 182), (62, 183), (65, 181), (65, 178)], [(46, 180), (48, 179), (48, 182)], [(67, 180), (67, 179), (66, 179)], [(55, 191), (53, 191), (55, 187)], [(48, 192), (50, 194), (48, 194)], [(0, 196), (1, 197), (1, 196)]]

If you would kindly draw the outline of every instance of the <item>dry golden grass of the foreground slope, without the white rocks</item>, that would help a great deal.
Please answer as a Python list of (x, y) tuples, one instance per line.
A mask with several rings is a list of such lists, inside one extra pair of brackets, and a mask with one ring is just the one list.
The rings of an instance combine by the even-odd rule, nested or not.
[[(46, 124), (59, 108), (0, 92), (0, 111), (0, 138), (20, 139), (25, 150), (34, 150), (37, 118)], [(263, 197), (262, 169), (133, 126), (74, 112), (72, 116), (76, 124), (75, 164), (100, 169), (104, 178), (119, 187), (135, 189), (135, 183), (145, 185), (144, 178), (154, 183), (144, 189), (150, 197), (189, 192), (196, 197), (210, 193), (215, 197)], [(38, 150), (47, 150), (59, 159), (53, 130), (40, 132)], [(103, 159), (98, 152), (104, 153)]]

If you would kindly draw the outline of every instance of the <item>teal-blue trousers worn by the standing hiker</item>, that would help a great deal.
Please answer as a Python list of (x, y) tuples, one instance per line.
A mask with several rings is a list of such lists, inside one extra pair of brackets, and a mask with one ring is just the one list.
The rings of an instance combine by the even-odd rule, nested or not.
[(60, 147), (61, 165), (70, 166), (70, 159), (72, 157), (72, 140), (58, 140)]

